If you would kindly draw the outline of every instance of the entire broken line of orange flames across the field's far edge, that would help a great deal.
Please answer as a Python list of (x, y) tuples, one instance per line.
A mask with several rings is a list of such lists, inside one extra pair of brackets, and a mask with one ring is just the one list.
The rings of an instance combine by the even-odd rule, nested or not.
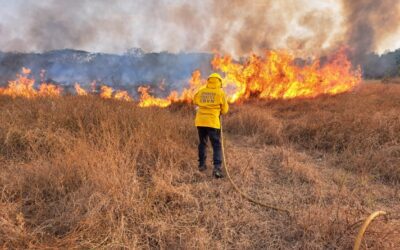
[[(361, 69), (353, 69), (345, 49), (339, 50), (325, 64), (315, 60), (305, 66), (298, 66), (294, 57), (285, 51), (267, 51), (265, 57), (251, 55), (243, 63), (235, 62), (230, 56), (216, 54), (211, 64), (214, 70), (225, 73), (223, 86), (231, 103), (242, 102), (251, 97), (291, 99), (336, 95), (351, 91), (361, 82)], [(0, 95), (26, 98), (62, 95), (60, 87), (45, 83), (44, 80), (39, 88), (35, 89), (35, 80), (28, 77), (30, 73), (30, 69), (22, 68), (15, 81), (10, 81), (6, 88), (0, 88)], [(41, 77), (44, 79), (44, 71)], [(171, 91), (165, 98), (152, 96), (150, 87), (140, 86), (138, 105), (168, 107), (176, 102), (190, 103), (194, 94), (205, 84), (206, 80), (202, 79), (200, 71), (196, 70), (192, 73), (187, 88), (180, 93)], [(95, 92), (95, 82), (91, 84), (91, 88), (92, 92)], [(127, 91), (114, 90), (105, 85), (100, 89), (100, 97), (104, 99), (134, 100)], [(163, 82), (159, 89), (165, 90)], [(80, 96), (89, 94), (78, 83), (75, 83), (75, 92)]]

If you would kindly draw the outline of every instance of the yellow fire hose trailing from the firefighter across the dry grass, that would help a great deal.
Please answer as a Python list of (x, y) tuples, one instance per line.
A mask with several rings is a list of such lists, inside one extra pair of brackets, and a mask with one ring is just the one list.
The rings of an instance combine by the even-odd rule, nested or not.
[[(224, 146), (224, 133), (223, 133), (223, 129), (222, 129), (222, 119), (220, 119), (221, 122), (221, 148), (222, 148), (222, 158), (223, 158), (223, 166), (225, 168), (226, 171), (226, 175), (229, 179), (229, 182), (231, 183), (231, 185), (233, 186), (234, 190), (239, 193), (244, 199), (248, 200), (249, 202), (252, 202), (254, 204), (257, 204), (259, 206), (265, 207), (267, 209), (271, 209), (271, 210), (275, 210), (278, 212), (283, 212), (286, 213), (288, 216), (290, 216), (290, 212), (287, 209), (284, 208), (280, 208), (277, 206), (274, 206), (272, 204), (269, 203), (264, 203), (261, 201), (258, 201), (256, 199), (254, 199), (253, 197), (249, 196), (248, 194), (246, 194), (245, 192), (243, 192), (237, 185), (236, 183), (233, 181), (230, 173), (229, 173), (229, 168), (228, 168), (228, 164), (226, 163), (226, 157), (225, 157), (225, 146)], [(363, 225), (361, 226), (358, 235), (354, 241), (354, 247), (353, 250), (359, 250), (360, 246), (361, 246), (361, 242), (364, 236), (365, 231), (367, 230), (369, 224), (378, 216), (380, 215), (387, 215), (387, 213), (385, 211), (376, 211), (374, 213), (372, 213), (370, 216), (367, 217), (367, 219), (365, 219)]]

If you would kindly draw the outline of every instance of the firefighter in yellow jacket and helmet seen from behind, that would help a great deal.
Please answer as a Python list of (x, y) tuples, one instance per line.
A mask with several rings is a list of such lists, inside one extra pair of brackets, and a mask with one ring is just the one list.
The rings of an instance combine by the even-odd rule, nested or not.
[(195, 125), (199, 134), (199, 170), (207, 169), (206, 147), (210, 138), (213, 148), (213, 176), (223, 178), (220, 115), (226, 114), (229, 106), (222, 89), (222, 77), (218, 73), (212, 73), (208, 77), (206, 87), (195, 94), (194, 104), (197, 106)]

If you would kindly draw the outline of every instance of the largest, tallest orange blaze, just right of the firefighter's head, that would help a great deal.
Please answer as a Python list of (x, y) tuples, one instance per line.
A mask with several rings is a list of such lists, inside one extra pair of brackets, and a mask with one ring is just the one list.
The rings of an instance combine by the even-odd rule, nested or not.
[(264, 59), (252, 55), (243, 64), (233, 62), (230, 56), (216, 55), (212, 65), (225, 73), (224, 85), (231, 90), (228, 93), (231, 103), (250, 96), (292, 99), (336, 95), (361, 83), (361, 70), (352, 70), (345, 49), (322, 66), (319, 60), (297, 66), (294, 57), (284, 51), (268, 51)]

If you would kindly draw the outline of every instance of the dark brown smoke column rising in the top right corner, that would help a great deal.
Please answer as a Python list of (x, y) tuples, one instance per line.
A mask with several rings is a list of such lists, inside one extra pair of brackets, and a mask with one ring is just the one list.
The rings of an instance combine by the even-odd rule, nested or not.
[(400, 1), (343, 0), (346, 16), (346, 44), (354, 50), (354, 58), (362, 61), (379, 43), (398, 31)]

